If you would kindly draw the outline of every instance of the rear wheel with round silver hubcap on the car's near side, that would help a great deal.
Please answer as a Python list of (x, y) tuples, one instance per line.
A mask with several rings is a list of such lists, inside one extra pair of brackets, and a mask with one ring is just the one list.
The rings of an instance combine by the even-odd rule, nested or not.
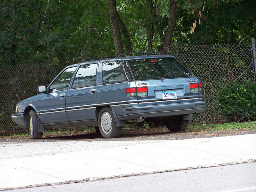
[(116, 126), (114, 113), (111, 108), (104, 107), (98, 116), (100, 134), (104, 138), (116, 138), (122, 133), (122, 127)]

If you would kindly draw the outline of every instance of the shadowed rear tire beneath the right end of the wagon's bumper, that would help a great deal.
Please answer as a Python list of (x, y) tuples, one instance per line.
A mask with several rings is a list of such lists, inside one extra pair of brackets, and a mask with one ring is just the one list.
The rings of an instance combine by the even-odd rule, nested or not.
[(170, 132), (185, 131), (188, 127), (189, 120), (183, 120), (183, 116), (178, 116), (172, 120), (165, 122)]

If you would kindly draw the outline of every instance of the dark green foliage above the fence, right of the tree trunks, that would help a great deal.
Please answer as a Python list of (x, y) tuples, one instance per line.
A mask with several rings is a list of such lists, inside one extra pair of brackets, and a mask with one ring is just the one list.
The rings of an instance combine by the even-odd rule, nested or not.
[(201, 4), (206, 20), (202, 24), (196, 23), (195, 34), (190, 34), (189, 30), (199, 9), (194, 8), (194, 12), (185, 10), (185, 2), (190, 1), (179, 1), (176, 42), (250, 44), (248, 40), (256, 36), (255, 0), (218, 0), (216, 9), (213, 0), (206, 0)]

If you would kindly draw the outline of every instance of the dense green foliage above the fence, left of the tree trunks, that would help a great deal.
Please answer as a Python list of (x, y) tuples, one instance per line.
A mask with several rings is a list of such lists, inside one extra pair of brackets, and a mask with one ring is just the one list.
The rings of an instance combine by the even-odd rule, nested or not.
[(0, 2), (0, 62), (4, 65), (112, 56), (104, 0)]

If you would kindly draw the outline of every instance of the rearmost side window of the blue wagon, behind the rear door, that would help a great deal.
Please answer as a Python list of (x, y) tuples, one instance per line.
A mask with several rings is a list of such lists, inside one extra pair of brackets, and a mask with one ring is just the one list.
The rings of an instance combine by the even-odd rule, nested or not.
[(102, 63), (103, 84), (126, 82), (127, 68), (122, 61), (108, 61)]

